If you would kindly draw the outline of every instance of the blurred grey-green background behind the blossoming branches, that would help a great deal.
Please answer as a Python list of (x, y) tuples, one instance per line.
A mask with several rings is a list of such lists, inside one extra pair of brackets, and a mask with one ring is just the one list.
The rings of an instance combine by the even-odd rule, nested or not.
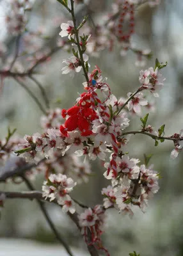
[[(8, 3), (6, 0), (1, 1), (0, 36), (1, 41), (6, 44), (6, 54), (11, 58), (15, 49), (16, 36), (8, 33), (4, 23), (4, 13), (8, 10), (6, 2)], [(61, 24), (65, 19), (70, 20), (70, 17), (56, 0), (35, 2), (33, 10), (29, 13), (28, 27), (35, 31), (36, 29), (44, 30), (45, 38), (36, 42), (38, 47), (53, 47), (59, 40), (58, 23)], [(111, 3), (113, 1), (105, 0), (100, 3), (97, 0), (91, 1), (89, 6), (96, 22), (102, 22), (101, 14), (111, 11)], [(76, 8), (77, 19), (81, 19), (84, 12), (86, 10), (83, 5), (79, 4)], [(182, 0), (162, 0), (161, 4), (154, 8), (143, 4), (135, 12), (136, 33), (132, 36), (132, 42), (136, 47), (151, 49), (153, 52), (152, 59), (147, 61), (144, 69), (154, 67), (155, 58), (162, 62), (168, 61), (167, 67), (162, 70), (163, 76), (166, 77), (164, 88), (159, 93), (159, 98), (150, 98), (150, 102), (154, 100), (155, 111), (151, 112), (149, 117), (149, 122), (155, 129), (166, 124), (167, 136), (183, 128), (182, 13)], [(21, 41), (20, 44), (22, 44), (20, 51), (23, 52), (24, 44)], [(74, 79), (61, 74), (62, 61), (68, 56), (70, 53), (60, 50), (52, 55), (50, 61), (37, 69), (39, 74), (36, 77), (44, 85), (51, 108), (69, 108), (76, 100), (77, 92), (83, 91), (84, 78), (81, 73), (76, 74)], [(122, 57), (119, 54), (119, 48), (115, 47), (112, 52), (104, 49), (100, 52), (100, 58), (91, 57), (89, 62), (92, 68), (98, 65), (102, 70), (102, 76), (108, 77), (107, 83), (110, 84), (113, 94), (126, 97), (127, 92), (134, 92), (139, 85), (141, 67), (136, 67), (135, 61), (136, 56), (133, 52), (127, 52), (127, 55)], [(3, 60), (1, 65), (3, 67)], [(24, 68), (24, 65), (19, 68)], [(31, 81), (26, 81), (26, 84), (36, 95), (40, 95), (35, 84)], [(143, 116), (146, 113), (147, 111), (144, 111)], [(6, 78), (0, 95), (1, 139), (6, 136), (8, 127), (17, 128), (17, 134), (20, 136), (41, 132), (40, 116), (42, 116), (40, 109), (28, 93), (13, 79)], [(134, 116), (128, 129), (129, 131), (138, 130), (140, 125), (139, 117)], [(141, 134), (131, 138), (128, 145), (130, 156), (143, 161), (143, 154), (153, 154), (151, 163), (154, 163), (154, 170), (161, 173), (163, 178), (159, 180), (160, 190), (149, 201), (145, 214), (137, 209), (131, 220), (113, 209), (107, 211), (108, 221), (102, 239), (112, 256), (126, 256), (132, 251), (140, 253), (141, 256), (183, 256), (183, 159), (182, 154), (179, 154), (177, 159), (171, 160), (172, 149), (171, 141), (165, 141), (158, 147), (154, 147), (154, 141)], [(76, 198), (90, 206), (102, 204), (100, 190), (109, 184), (103, 178), (104, 169), (100, 162), (93, 162), (92, 170), (96, 175), (90, 177), (87, 184), (81, 184), (74, 189)], [(36, 178), (36, 189), (41, 189), (42, 180), (43, 177)], [(1, 184), (0, 189), (22, 191), (26, 190), (26, 186), (8, 183)], [(60, 211), (60, 208), (47, 204), (47, 209), (60, 234), (74, 248), (76, 255), (88, 255), (84, 252), (86, 248), (77, 228)], [(0, 236), (2, 248), (0, 255), (2, 256), (21, 256), (24, 253), (67, 255), (56, 242), (36, 202), (7, 200), (1, 214)]]

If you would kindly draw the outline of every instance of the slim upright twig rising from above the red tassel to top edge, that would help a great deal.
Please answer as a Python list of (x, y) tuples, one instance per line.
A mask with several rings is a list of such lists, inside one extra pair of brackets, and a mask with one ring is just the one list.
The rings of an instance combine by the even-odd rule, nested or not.
[(83, 68), (83, 72), (84, 72), (84, 76), (86, 78), (86, 82), (89, 83), (88, 73), (86, 71), (86, 67), (84, 65), (84, 60), (83, 60), (83, 52), (82, 52), (81, 46), (79, 44), (79, 31), (77, 30), (76, 17), (75, 17), (75, 14), (74, 14), (74, 1), (70, 0), (70, 4), (71, 4), (71, 12), (70, 13), (72, 14), (72, 20), (73, 20), (73, 23), (74, 23), (74, 31), (75, 31), (75, 36), (76, 36), (76, 44), (77, 44), (77, 48), (78, 48), (78, 51), (79, 51), (79, 56), (80, 56), (80, 60), (81, 60), (81, 66)]

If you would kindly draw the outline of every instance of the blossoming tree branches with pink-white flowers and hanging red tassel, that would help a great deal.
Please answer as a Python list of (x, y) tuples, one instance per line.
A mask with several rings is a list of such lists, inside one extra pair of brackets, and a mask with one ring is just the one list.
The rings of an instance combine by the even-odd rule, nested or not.
[[(20, 157), (15, 170), (0, 173), (0, 181), (15, 182), (17, 177), (20, 177), (30, 190), (29, 192), (1, 191), (0, 205), (3, 207), (4, 201), (8, 198), (37, 200), (55, 236), (65, 246), (68, 255), (73, 255), (52, 223), (44, 202), (60, 205), (61, 211), (66, 212), (77, 225), (90, 255), (104, 252), (109, 256), (110, 253), (101, 238), (105, 230), (107, 210), (113, 208), (132, 217), (134, 208), (138, 207), (144, 212), (148, 200), (159, 190), (159, 173), (154, 170), (153, 165), (149, 165), (150, 156), (145, 155), (144, 163), (140, 163), (139, 159), (131, 156), (131, 152), (127, 152), (128, 144), (132, 143), (135, 134), (150, 136), (155, 146), (159, 142), (170, 140), (173, 146), (170, 156), (174, 159), (182, 151), (183, 132), (165, 136), (164, 124), (156, 131), (148, 123), (149, 114), (141, 116), (141, 109), (148, 106), (146, 95), (159, 97), (159, 90), (163, 88), (165, 80), (161, 75), (161, 69), (166, 67), (167, 63), (161, 63), (156, 59), (154, 67), (139, 72), (139, 86), (134, 88), (134, 92), (127, 93), (127, 97), (117, 99), (107, 79), (102, 77), (100, 67), (98, 65), (91, 67), (88, 61), (91, 54), (98, 55), (105, 47), (111, 51), (114, 44), (120, 44), (122, 55), (124, 52), (132, 51), (137, 56), (138, 65), (142, 65), (151, 54), (150, 51), (134, 49), (131, 45), (131, 35), (135, 27), (134, 10), (138, 10), (140, 4), (147, 3), (154, 6), (159, 4), (159, 1), (114, 1), (112, 13), (107, 15), (104, 24), (100, 26), (93, 22), (89, 14), (83, 17), (81, 23), (77, 22), (75, 8), (77, 4), (86, 5), (84, 1), (57, 1), (70, 15), (70, 20), (61, 23), (59, 34), (61, 42), (46, 54), (42, 52), (39, 58), (37, 58), (38, 51), (32, 54), (29, 60), (30, 66), (23, 72), (14, 71), (13, 67), (19, 58), (20, 38), (24, 38), (26, 19), (28, 19), (26, 10), (31, 9), (31, 3), (26, 0), (10, 1), (13, 14), (7, 16), (6, 22), (9, 31), (17, 36), (17, 40), (13, 60), (8, 67), (0, 70), (2, 86), (6, 77), (15, 79), (35, 100), (44, 116), (41, 118), (42, 134), (35, 131), (35, 134), (26, 135), (23, 139), (13, 138), (15, 130), (8, 129), (8, 135), (0, 143), (1, 163), (5, 164), (12, 154)], [(74, 77), (76, 73), (81, 72), (84, 81), (79, 97), (70, 108), (49, 109), (45, 90), (35, 78), (35, 68), (60, 49), (70, 49), (71, 54), (70, 58), (63, 60), (62, 74), (70, 74)], [(1, 47), (1, 52), (3, 51), (5, 50)], [(47, 109), (26, 86), (27, 79), (32, 79), (38, 85)], [(131, 131), (130, 121), (134, 115), (140, 117), (141, 129), (138, 127), (136, 131)], [(95, 161), (97, 158), (103, 161), (106, 168), (104, 179), (108, 179), (111, 184), (107, 188), (101, 188), (103, 202), (90, 207), (76, 200), (74, 188), (81, 182), (88, 181), (92, 172), (90, 161)], [(35, 191), (29, 177), (40, 172), (45, 173), (45, 180), (42, 191)], [(76, 211), (76, 205), (81, 211)]]

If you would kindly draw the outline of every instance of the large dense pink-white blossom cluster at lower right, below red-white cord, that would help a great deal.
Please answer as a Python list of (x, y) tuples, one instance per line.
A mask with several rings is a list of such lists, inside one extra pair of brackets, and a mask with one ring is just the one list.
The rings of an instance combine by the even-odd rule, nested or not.
[[(112, 179), (112, 186), (102, 189), (104, 207), (115, 207), (123, 214), (133, 215), (132, 207), (137, 205), (141, 211), (145, 211), (149, 198), (159, 190), (159, 174), (142, 164), (138, 166), (138, 159), (129, 159), (129, 156), (117, 157), (118, 179), (113, 178), (113, 173), (104, 175)], [(106, 163), (107, 166), (109, 163)]]

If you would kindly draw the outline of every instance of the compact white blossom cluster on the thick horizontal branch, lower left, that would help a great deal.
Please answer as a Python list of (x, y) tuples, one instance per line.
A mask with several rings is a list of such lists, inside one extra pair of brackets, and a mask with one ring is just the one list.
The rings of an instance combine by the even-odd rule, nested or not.
[(50, 201), (56, 200), (56, 202), (62, 205), (64, 212), (74, 213), (76, 209), (74, 207), (74, 202), (69, 196), (69, 193), (76, 186), (76, 182), (71, 178), (67, 178), (66, 175), (59, 173), (51, 174), (49, 179), (44, 182), (42, 186), (43, 197), (45, 199), (49, 198)]

